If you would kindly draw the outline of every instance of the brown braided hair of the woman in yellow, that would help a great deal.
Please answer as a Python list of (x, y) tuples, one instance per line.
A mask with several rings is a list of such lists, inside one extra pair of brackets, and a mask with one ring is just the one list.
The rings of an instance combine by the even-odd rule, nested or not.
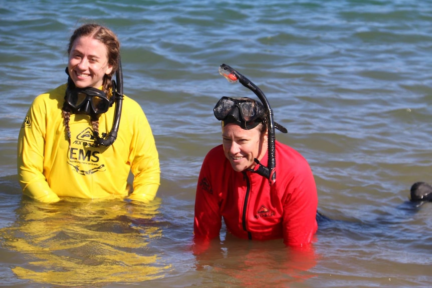
[[(70, 55), (72, 47), (74, 45), (75, 40), (80, 37), (90, 36), (93, 39), (100, 41), (105, 45), (108, 51), (108, 64), (112, 65), (113, 69), (110, 74), (105, 74), (102, 83), (102, 89), (106, 93), (106, 95), (111, 94), (112, 90), (112, 76), (119, 68), (119, 59), (120, 59), (120, 42), (117, 39), (117, 36), (114, 32), (112, 32), (109, 28), (101, 26), (99, 24), (84, 24), (77, 28), (72, 34), (69, 45), (68, 45), (68, 55)], [(62, 115), (64, 118), (64, 124), (66, 127), (66, 136), (69, 140), (69, 148), (71, 146), (71, 131), (69, 127), (69, 120), (71, 117), (71, 112), (67, 105), (63, 106)], [(93, 131), (96, 135), (99, 135), (99, 121), (91, 120)]]

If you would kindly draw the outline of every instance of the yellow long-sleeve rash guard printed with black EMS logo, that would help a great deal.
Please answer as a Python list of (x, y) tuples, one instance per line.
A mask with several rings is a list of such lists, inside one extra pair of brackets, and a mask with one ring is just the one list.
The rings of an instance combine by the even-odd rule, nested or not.
[[(66, 84), (35, 98), (18, 139), (18, 176), (23, 193), (42, 202), (59, 197), (128, 197), (149, 202), (160, 184), (159, 156), (147, 118), (125, 96), (116, 141), (97, 146), (90, 117), (71, 114), (69, 141), (62, 116)], [(99, 135), (109, 133), (115, 104), (99, 117)], [(128, 196), (127, 178), (134, 175)]]

